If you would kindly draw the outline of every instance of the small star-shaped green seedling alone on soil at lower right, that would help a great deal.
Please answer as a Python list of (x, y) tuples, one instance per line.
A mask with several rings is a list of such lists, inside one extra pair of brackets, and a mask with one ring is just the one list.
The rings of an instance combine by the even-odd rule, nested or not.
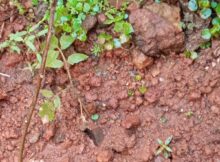
[(168, 137), (165, 143), (163, 143), (162, 140), (157, 139), (157, 142), (160, 146), (156, 151), (156, 156), (160, 155), (161, 153), (166, 159), (171, 156), (172, 149), (169, 147), (169, 144), (171, 143), (172, 139), (173, 139), (173, 136)]

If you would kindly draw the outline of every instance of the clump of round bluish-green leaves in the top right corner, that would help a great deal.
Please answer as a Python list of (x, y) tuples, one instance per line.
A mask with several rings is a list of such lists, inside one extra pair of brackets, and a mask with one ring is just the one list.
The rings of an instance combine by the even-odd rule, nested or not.
[(188, 8), (198, 12), (202, 19), (212, 18), (211, 28), (203, 29), (202, 38), (209, 41), (220, 36), (220, 3), (215, 0), (190, 0)]

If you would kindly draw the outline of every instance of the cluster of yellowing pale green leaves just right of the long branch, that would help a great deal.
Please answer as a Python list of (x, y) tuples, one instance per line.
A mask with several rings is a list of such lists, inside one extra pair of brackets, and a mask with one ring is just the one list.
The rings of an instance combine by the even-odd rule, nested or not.
[(44, 102), (40, 106), (39, 116), (43, 123), (48, 123), (54, 120), (56, 110), (61, 106), (61, 100), (51, 90), (42, 89), (40, 93), (44, 97)]

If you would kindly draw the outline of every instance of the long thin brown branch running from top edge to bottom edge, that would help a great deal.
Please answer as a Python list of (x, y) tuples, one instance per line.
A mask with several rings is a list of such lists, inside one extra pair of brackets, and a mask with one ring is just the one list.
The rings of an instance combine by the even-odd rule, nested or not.
[(53, 22), (54, 22), (54, 13), (55, 13), (55, 8), (56, 8), (56, 3), (57, 3), (57, 0), (53, 0), (52, 3), (51, 3), (49, 29), (48, 29), (48, 34), (47, 34), (46, 46), (45, 46), (43, 56), (42, 56), (42, 64), (41, 64), (41, 67), (40, 67), (40, 70), (39, 70), (39, 76), (38, 76), (38, 80), (37, 80), (37, 86), (36, 86), (36, 89), (35, 89), (35, 94), (33, 96), (33, 100), (32, 100), (32, 103), (30, 105), (30, 113), (28, 114), (27, 122), (25, 121), (25, 127), (24, 127), (24, 132), (23, 132), (23, 135), (22, 135), (22, 141), (21, 141), (21, 146), (20, 146), (19, 162), (23, 162), (23, 152), (24, 152), (25, 139), (26, 139), (26, 136), (27, 136), (28, 128), (29, 128), (29, 125), (30, 125), (30, 122), (31, 122), (31, 119), (32, 119), (34, 109), (35, 109), (36, 104), (37, 104), (39, 91), (40, 91), (42, 80), (43, 80), (44, 74), (45, 74), (45, 66), (46, 66), (48, 50), (49, 50), (49, 47), (50, 47), (50, 40), (51, 40), (51, 35), (52, 35), (52, 28), (53, 28)]

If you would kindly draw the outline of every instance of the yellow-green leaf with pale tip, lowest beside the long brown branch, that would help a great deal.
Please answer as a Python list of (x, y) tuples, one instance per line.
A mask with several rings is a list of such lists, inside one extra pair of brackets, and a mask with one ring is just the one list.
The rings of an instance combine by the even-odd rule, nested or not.
[(52, 102), (44, 102), (39, 110), (39, 116), (41, 117), (43, 123), (53, 121), (55, 118), (55, 108)]

